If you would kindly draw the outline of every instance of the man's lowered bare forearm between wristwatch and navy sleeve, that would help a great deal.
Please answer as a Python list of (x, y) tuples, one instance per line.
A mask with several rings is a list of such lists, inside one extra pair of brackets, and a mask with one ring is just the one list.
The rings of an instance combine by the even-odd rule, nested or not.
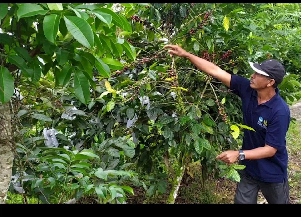
[(243, 150), (245, 160), (258, 160), (266, 157), (273, 157), (276, 153), (275, 148), (271, 146), (263, 146), (251, 150)]

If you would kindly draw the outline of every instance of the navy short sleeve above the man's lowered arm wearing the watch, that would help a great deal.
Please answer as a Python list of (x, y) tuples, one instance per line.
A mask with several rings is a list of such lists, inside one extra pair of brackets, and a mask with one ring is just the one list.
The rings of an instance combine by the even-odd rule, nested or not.
[(290, 125), (289, 115), (279, 115), (268, 123), (268, 128), (265, 134), (265, 144), (274, 148), (281, 148), (285, 145), (285, 137)]

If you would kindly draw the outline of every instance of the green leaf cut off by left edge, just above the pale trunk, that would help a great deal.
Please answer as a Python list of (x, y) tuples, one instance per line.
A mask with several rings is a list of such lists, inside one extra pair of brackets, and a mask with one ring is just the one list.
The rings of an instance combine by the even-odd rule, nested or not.
[(0, 102), (8, 102), (14, 95), (14, 78), (8, 69), (0, 66)]

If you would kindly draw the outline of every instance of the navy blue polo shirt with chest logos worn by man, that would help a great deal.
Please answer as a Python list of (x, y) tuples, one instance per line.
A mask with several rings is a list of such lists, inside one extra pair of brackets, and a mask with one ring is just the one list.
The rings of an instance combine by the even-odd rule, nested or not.
[(273, 157), (259, 160), (243, 160), (245, 171), (262, 182), (282, 183), (287, 180), (286, 132), (290, 124), (290, 110), (284, 100), (276, 95), (258, 105), (257, 91), (250, 87), (247, 78), (231, 75), (230, 89), (240, 96), (244, 125), (253, 130), (244, 130), (242, 150), (263, 147), (265, 144), (277, 148)]

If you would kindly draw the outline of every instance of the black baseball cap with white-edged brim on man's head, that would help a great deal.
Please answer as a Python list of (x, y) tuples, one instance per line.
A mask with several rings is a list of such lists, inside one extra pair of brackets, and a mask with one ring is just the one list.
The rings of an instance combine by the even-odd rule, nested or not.
[(277, 60), (269, 59), (262, 63), (248, 62), (252, 69), (261, 74), (273, 78), (276, 84), (280, 84), (285, 75), (284, 67)]

